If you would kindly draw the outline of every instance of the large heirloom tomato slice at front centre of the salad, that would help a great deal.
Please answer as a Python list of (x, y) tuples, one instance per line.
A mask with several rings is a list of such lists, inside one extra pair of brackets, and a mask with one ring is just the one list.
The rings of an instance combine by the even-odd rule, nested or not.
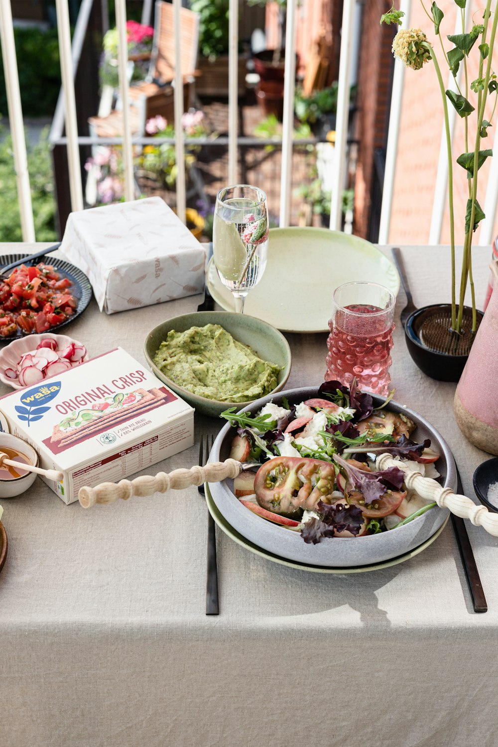
[(301, 515), (334, 492), (335, 469), (320, 459), (276, 456), (262, 465), (254, 492), (261, 508), (286, 516)]

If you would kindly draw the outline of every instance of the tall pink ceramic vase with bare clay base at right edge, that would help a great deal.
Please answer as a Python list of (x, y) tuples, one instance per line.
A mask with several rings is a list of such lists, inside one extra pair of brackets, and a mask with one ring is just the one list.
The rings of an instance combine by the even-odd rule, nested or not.
[(455, 391), (455, 418), (471, 443), (498, 454), (498, 260), (493, 293)]

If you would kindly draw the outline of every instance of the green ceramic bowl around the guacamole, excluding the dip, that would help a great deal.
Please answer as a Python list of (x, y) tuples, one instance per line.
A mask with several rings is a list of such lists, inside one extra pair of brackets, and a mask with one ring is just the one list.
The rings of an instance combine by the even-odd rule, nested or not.
[(191, 326), (205, 326), (205, 324), (220, 324), (223, 329), (230, 332), (235, 340), (252, 347), (252, 350), (260, 358), (280, 366), (278, 384), (273, 392), (284, 388), (285, 382), (289, 378), (291, 356), (289, 344), (284, 335), (278, 332), (278, 329), (261, 319), (255, 319), (255, 317), (249, 317), (246, 314), (234, 314), (231, 311), (196, 311), (193, 314), (182, 314), (182, 316), (173, 317), (152, 329), (143, 344), (143, 352), (155, 376), (176, 394), (179, 394), (183, 400), (195, 407), (197, 412), (203, 412), (204, 415), (218, 418), (223, 410), (228, 407), (235, 406), (237, 409), (242, 409), (250, 404), (249, 402), (220, 402), (218, 400), (208, 400), (207, 397), (199, 397), (198, 394), (193, 394), (191, 391), (175, 384), (168, 376), (161, 373), (154, 364), (155, 353), (161, 342), (166, 339), (168, 332), (171, 332), (172, 329), (175, 332), (185, 332)]

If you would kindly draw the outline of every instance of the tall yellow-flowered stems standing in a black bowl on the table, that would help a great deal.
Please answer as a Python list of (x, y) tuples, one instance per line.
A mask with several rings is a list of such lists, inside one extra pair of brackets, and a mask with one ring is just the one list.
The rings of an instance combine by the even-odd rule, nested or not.
[[(423, 4), (423, 1), (420, 0)], [(491, 0), (486, 0), (484, 14), (479, 13), (482, 23), (474, 23), (470, 31), (465, 31), (466, 0), (455, 0), (461, 13), (461, 34), (449, 35), (452, 49), (444, 52), (441, 37), (443, 12), (433, 2), (430, 12), (434, 22), (435, 34), (441, 43), (443, 57), (455, 76), (460, 65), (464, 66), (464, 84), (457, 86), (458, 93), (445, 90), (443, 74), (438, 63), (438, 55), (420, 28), (400, 29), (393, 40), (393, 55), (414, 70), (423, 65), (434, 66), (443, 103), (443, 115), (446, 132), (446, 152), (448, 158), (448, 200), (449, 230), (452, 258), (452, 300), (450, 304), (435, 304), (418, 309), (408, 317), (405, 334), (408, 350), (419, 368), (434, 379), (458, 381), (482, 318), (476, 309), (472, 276), (472, 241), (479, 222), (485, 217), (477, 199), (479, 169), (492, 155), (491, 149), (482, 148), (482, 140), (488, 136), (491, 121), (485, 119), (485, 108), (488, 96), (494, 97), (494, 108), (490, 116), (493, 120), (498, 97), (497, 75), (492, 69), (494, 42), (497, 33), (498, 13), (491, 13)], [(425, 6), (423, 5), (424, 9)], [(427, 11), (426, 11), (427, 12)], [(458, 10), (457, 10), (458, 12)], [(395, 10), (394, 5), (385, 13), (381, 22), (401, 25), (404, 14)], [(429, 16), (431, 17), (431, 16)], [(476, 16), (473, 16), (476, 20)], [(490, 33), (491, 32), (491, 33)], [(473, 52), (478, 58), (479, 72), (475, 80), (470, 81), (467, 75), (467, 58)], [(453, 211), (453, 160), (451, 134), (449, 131), (448, 105), (452, 105), (464, 126), (465, 152), (455, 158), (458, 168), (463, 168), (467, 176), (467, 210), (461, 217), (464, 253), (460, 273), (460, 288), (456, 292), (455, 267), (455, 216)], [(470, 127), (473, 120), (474, 128)], [(474, 134), (475, 132), (475, 134)], [(464, 307), (464, 296), (470, 284), (472, 307)]]

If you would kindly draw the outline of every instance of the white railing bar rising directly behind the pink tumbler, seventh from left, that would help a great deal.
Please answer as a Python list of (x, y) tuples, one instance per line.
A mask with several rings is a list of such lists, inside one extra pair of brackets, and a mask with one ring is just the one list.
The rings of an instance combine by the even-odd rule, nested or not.
[(337, 120), (335, 131), (334, 175), (330, 205), (330, 228), (340, 231), (342, 226), (343, 187), (346, 175), (346, 140), (349, 125), (349, 73), (351, 69), (352, 39), (355, 25), (355, 0), (345, 0), (340, 30), (339, 81), (337, 89)]

